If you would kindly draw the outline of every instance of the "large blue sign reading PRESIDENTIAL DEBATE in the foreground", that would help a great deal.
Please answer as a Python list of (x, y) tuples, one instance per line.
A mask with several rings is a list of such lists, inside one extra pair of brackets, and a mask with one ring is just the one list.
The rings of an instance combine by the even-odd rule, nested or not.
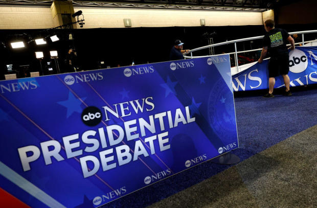
[(238, 148), (229, 60), (1, 81), (1, 188), (97, 207)]

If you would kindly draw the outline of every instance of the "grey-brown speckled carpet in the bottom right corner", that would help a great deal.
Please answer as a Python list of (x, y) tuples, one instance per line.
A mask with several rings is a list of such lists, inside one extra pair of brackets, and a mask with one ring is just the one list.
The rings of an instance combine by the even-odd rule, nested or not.
[(317, 125), (149, 207), (317, 207)]

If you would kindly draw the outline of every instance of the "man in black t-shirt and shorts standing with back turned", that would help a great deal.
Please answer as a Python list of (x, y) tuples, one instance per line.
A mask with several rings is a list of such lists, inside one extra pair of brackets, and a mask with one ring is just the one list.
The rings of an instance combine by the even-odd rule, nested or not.
[(267, 52), (271, 58), (268, 63), (268, 93), (264, 97), (274, 97), (273, 89), (275, 77), (282, 75), (285, 84), (285, 94), (291, 96), (289, 90), (289, 57), (286, 47), (286, 40), (291, 44), (291, 50), (295, 49), (294, 39), (283, 29), (274, 27), (274, 20), (268, 19), (264, 22), (264, 28), (267, 34), (263, 38), (263, 49), (258, 62), (262, 63)]

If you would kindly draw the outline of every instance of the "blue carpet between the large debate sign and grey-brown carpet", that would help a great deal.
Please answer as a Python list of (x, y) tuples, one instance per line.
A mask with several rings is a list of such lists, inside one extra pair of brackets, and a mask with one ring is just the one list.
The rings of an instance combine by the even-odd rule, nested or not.
[[(295, 91), (291, 97), (236, 97), (235, 107), (240, 148), (233, 153), (245, 160), (316, 125), (317, 89)], [(145, 207), (229, 167), (207, 161), (102, 207)]]

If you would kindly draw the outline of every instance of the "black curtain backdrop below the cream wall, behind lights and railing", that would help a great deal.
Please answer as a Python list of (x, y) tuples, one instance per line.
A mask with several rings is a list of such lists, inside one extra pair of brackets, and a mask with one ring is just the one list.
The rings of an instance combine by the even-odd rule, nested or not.
[[(314, 30), (313, 25), (282, 25), (288, 32)], [(147, 62), (168, 61), (169, 53), (175, 39), (182, 40), (184, 49), (194, 49), (208, 45), (208, 34), (214, 43), (239, 38), (260, 36), (265, 34), (263, 26), (228, 26), (228, 27), (166, 27), (166, 28), (106, 28), (106, 29), (55, 29), (55, 30), (0, 30), (0, 79), (8, 74), (7, 64), (13, 64), (13, 69), (20, 71), (18, 77), (24, 77), (20, 65), (29, 65), (29, 72), (40, 72), (40, 62), (35, 58), (36, 51), (44, 53), (41, 61), (44, 75), (55, 74), (55, 61), (50, 58), (50, 51), (58, 51), (58, 64), (61, 73), (70, 72), (66, 69), (66, 54), (70, 48), (77, 51), (78, 64), (81, 70), (96, 70), (98, 68), (135, 65)], [(69, 34), (73, 40), (69, 40)], [(57, 34), (59, 41), (52, 42), (49, 38), (45, 45), (36, 45), (33, 39)], [(205, 34), (205, 35), (204, 35)], [(317, 38), (317, 34), (305, 35), (305, 38)], [(301, 38), (301, 37), (300, 37)], [(26, 48), (12, 49), (10, 42), (23, 39)], [(29, 43), (27, 43), (29, 42)], [(253, 43), (237, 43), (238, 51), (262, 47), (261, 40)], [(215, 54), (234, 51), (234, 44), (215, 47)], [(209, 55), (208, 49), (194, 53), (194, 56)], [(103, 61), (104, 64), (100, 64)], [(53, 71), (48, 71), (47, 62), (51, 62)], [(25, 67), (26, 69), (27, 67)], [(27, 72), (27, 73), (29, 73)], [(27, 74), (27, 76), (29, 76)]]

